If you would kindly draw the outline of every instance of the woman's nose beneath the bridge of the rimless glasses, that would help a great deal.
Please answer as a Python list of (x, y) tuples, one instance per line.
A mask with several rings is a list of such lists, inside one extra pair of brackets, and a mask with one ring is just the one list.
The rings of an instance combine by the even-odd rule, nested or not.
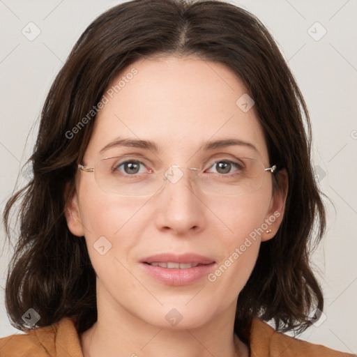
[(206, 225), (206, 206), (189, 171), (173, 165), (165, 173), (165, 183), (156, 197), (155, 225), (160, 231), (185, 236)]

